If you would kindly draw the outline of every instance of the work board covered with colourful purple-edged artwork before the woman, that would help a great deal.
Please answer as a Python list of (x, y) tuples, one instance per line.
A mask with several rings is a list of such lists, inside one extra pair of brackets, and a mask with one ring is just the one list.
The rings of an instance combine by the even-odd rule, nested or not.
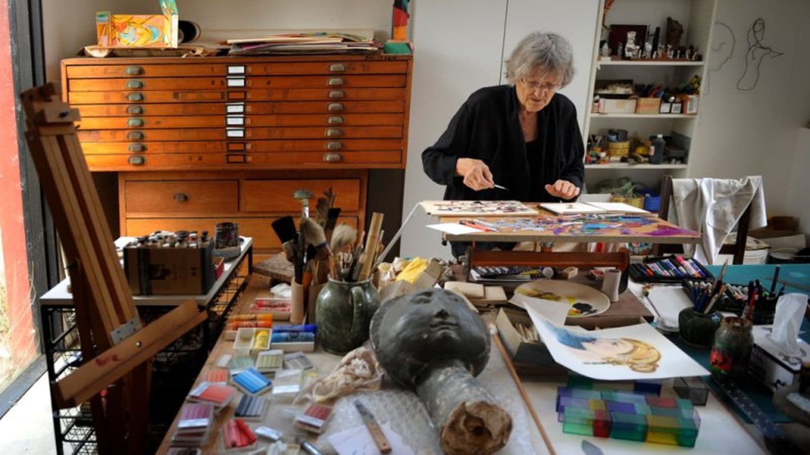
[(458, 223), (459, 218), (482, 219), (499, 232), (444, 233), (446, 240), (493, 242), (648, 242), (697, 244), (700, 232), (680, 228), (652, 214), (556, 215), (538, 210), (527, 216), (441, 216), (440, 223)]

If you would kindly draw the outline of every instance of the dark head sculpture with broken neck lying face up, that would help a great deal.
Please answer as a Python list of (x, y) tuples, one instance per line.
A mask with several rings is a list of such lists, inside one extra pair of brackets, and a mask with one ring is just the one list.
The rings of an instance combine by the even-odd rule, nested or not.
[(493, 453), (512, 420), (475, 381), (489, 359), (486, 325), (450, 291), (417, 291), (374, 314), (371, 345), (386, 373), (416, 389), (445, 453)]

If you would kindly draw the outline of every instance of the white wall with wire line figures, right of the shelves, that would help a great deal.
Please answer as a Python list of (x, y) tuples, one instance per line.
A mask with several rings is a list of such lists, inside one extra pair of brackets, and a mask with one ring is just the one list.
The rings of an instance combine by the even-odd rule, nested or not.
[[(757, 87), (740, 91), (736, 85), (748, 49), (746, 35), (758, 17), (765, 19), (763, 44), (784, 55), (766, 59), (760, 67)], [(700, 150), (690, 156), (690, 172), (696, 177), (761, 174), (769, 215), (795, 215), (799, 206), (808, 205), (806, 199), (787, 197), (797, 153), (797, 131), (810, 120), (810, 35), (805, 30), (808, 18), (810, 2), (806, 0), (718, 2), (715, 20), (726, 23), (734, 32), (735, 49), (722, 69), (710, 72), (709, 86), (704, 85), (696, 133)], [(727, 36), (725, 29), (715, 25), (713, 47), (719, 47), (723, 40), (728, 42)], [(720, 52), (713, 52), (711, 69), (723, 62), (727, 49), (730, 46), (724, 45)], [(802, 176), (793, 179), (794, 185), (799, 181), (807, 185), (804, 174), (808, 171), (810, 167), (805, 165)], [(803, 194), (806, 197), (807, 192)]]

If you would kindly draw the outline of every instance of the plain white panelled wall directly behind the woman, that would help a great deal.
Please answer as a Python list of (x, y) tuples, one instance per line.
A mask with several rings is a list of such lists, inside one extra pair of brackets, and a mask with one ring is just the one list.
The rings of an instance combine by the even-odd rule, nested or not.
[[(416, 4), (411, 15), (416, 53), (403, 216), (417, 202), (441, 199), (444, 187), (424, 175), (422, 151), (436, 142), (473, 91), (505, 83), (502, 62), (529, 32), (558, 32), (571, 41), (577, 74), (563, 93), (576, 104), (582, 127), (590, 98), (587, 86), (597, 5), (595, 0), (445, 0)], [(431, 222), (435, 223), (435, 219), (416, 210), (403, 233), (403, 254), (450, 257), (450, 247), (441, 246), (439, 233), (424, 228)]]

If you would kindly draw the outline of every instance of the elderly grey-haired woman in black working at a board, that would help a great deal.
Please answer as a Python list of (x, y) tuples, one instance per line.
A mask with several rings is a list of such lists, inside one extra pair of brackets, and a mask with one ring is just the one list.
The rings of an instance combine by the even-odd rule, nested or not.
[(585, 172), (582, 134), (573, 103), (556, 92), (572, 78), (565, 38), (535, 32), (521, 40), (506, 61), (509, 85), (475, 91), (422, 152), (424, 172), (447, 185), (445, 199), (576, 198)]

